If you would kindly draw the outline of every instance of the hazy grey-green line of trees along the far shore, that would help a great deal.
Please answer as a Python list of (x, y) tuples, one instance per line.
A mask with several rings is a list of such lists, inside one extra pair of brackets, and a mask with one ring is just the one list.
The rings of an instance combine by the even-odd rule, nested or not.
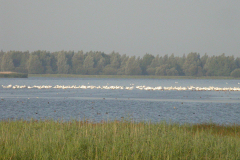
[(225, 54), (201, 57), (196, 52), (182, 57), (145, 54), (141, 58), (99, 51), (1, 51), (0, 70), (29, 74), (240, 77), (240, 58)]

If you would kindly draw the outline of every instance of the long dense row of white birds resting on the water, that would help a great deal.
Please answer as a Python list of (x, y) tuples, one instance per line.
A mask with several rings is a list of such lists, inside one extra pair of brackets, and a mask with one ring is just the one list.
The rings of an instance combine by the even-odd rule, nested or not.
[(34, 86), (26, 86), (26, 85), (7, 85), (4, 86), (2, 85), (2, 88), (9, 88), (9, 89), (121, 89), (121, 90), (133, 90), (133, 89), (139, 89), (139, 90), (147, 90), (147, 91), (154, 91), (154, 90), (161, 90), (161, 91), (170, 91), (170, 90), (175, 90), (175, 91), (240, 91), (240, 87), (194, 87), (194, 86), (189, 86), (189, 87), (149, 87), (149, 86), (134, 86), (131, 84), (129, 87), (125, 86), (93, 86), (93, 85), (56, 85), (56, 86), (51, 86), (51, 85), (34, 85)]

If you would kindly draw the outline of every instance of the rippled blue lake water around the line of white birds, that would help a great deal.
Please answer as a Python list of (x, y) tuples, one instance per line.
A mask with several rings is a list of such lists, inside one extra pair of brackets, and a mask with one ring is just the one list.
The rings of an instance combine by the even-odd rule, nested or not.
[[(123, 86), (112, 89), (12, 89), (2, 85)], [(0, 119), (167, 121), (240, 124), (239, 91), (139, 90), (136, 86), (240, 87), (240, 80), (36, 78), (0, 79)]]

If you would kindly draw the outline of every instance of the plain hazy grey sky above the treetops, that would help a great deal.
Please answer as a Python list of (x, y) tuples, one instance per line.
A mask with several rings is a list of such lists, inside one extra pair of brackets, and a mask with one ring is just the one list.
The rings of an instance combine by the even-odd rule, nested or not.
[(239, 0), (0, 0), (0, 50), (240, 57)]

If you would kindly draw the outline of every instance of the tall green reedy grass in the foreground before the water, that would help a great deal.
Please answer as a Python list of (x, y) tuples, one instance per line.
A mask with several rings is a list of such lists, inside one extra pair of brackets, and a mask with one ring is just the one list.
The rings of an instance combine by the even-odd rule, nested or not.
[(240, 159), (240, 125), (0, 121), (0, 159)]

